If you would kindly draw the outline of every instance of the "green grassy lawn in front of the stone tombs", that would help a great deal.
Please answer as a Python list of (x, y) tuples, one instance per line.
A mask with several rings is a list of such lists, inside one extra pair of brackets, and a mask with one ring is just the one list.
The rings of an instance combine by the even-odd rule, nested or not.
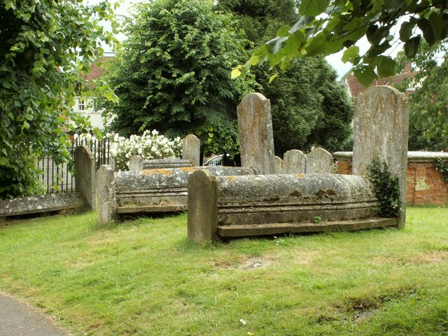
[(75, 335), (448, 335), (448, 209), (405, 230), (195, 246), (186, 215), (0, 228), (0, 290)]

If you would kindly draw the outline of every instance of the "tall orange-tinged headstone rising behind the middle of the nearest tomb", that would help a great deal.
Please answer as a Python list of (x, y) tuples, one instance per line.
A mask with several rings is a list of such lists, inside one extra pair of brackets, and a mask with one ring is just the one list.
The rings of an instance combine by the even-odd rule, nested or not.
[(271, 104), (260, 93), (250, 93), (238, 108), (241, 167), (258, 174), (275, 174)]

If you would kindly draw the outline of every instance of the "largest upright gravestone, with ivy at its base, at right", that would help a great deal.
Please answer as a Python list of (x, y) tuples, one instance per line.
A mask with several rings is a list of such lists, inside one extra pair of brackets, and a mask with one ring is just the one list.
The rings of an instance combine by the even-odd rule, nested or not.
[(409, 105), (405, 94), (393, 87), (369, 87), (356, 98), (353, 116), (353, 174), (365, 175), (375, 158), (386, 162), (398, 176), (402, 210), (398, 225), (405, 225), (407, 137)]

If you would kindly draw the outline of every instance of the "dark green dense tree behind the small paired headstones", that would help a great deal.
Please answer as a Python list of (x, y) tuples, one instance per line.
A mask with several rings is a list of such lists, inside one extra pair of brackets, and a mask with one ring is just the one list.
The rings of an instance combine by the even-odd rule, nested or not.
[[(292, 0), (221, 0), (218, 8), (231, 10), (254, 45), (293, 20), (297, 3)], [(277, 155), (292, 148), (323, 146), (344, 148), (351, 134), (353, 109), (337, 75), (322, 57), (297, 60), (284, 76), (269, 83), (267, 65), (253, 69), (262, 94), (271, 100), (274, 148)]]

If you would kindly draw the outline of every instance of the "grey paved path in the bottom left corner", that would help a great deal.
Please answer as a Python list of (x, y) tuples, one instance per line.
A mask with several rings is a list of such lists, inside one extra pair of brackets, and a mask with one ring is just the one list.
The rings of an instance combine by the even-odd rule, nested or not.
[(27, 304), (0, 293), (0, 336), (67, 336)]

